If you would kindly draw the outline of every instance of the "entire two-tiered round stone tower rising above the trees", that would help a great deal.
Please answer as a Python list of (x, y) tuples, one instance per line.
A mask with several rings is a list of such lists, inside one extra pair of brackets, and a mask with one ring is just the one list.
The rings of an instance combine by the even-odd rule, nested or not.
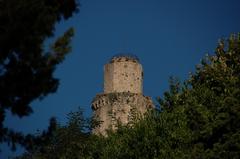
[(105, 135), (118, 122), (128, 124), (153, 108), (151, 98), (142, 94), (142, 83), (142, 66), (133, 55), (116, 55), (104, 66), (104, 92), (92, 101), (94, 118), (100, 121), (93, 133)]

